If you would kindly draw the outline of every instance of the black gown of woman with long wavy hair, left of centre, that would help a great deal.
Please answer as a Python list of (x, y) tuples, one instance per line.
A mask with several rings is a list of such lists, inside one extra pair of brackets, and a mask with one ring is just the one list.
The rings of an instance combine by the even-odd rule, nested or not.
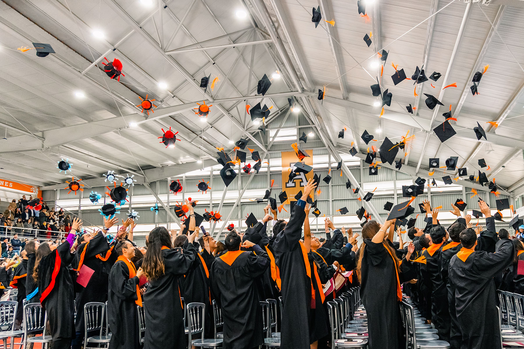
[(156, 280), (149, 280), (147, 292), (144, 294), (144, 349), (167, 349), (176, 345), (183, 347), (183, 343), (186, 342), (178, 279), (183, 278), (195, 258), (198, 258), (196, 249), (193, 244), (187, 244), (182, 253), (176, 249), (165, 249), (161, 253), (165, 274)]

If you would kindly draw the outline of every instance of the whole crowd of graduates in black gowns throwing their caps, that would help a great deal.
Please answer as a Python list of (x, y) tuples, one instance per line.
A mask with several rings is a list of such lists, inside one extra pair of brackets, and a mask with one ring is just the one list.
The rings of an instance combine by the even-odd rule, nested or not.
[[(215, 301), (224, 323), (222, 347), (249, 349), (262, 345), (266, 335), (259, 301), (282, 297), (280, 346), (316, 349), (330, 347), (327, 302), (344, 288), (360, 285), (369, 348), (397, 349), (405, 341), (399, 325), (403, 285), (403, 291), (438, 329), (440, 339), (452, 348), (500, 345), (496, 283), (521, 286), (515, 263), (524, 256), (524, 246), (518, 239), (508, 239), (507, 231), (506, 235), (503, 230), (495, 232), (494, 218), (484, 201), (479, 201), (486, 217), (484, 230), (472, 229), (471, 217), (461, 217), (456, 207), (458, 218), (445, 229), (438, 221), (438, 210), (424, 202), (431, 217), (423, 230), (408, 231), (413, 241), (405, 248), (401, 241), (392, 242), (395, 220), (383, 225), (374, 220), (365, 223), (358, 248), (358, 234), (352, 235), (349, 229), (345, 237), (345, 229), (334, 229), (329, 219), (325, 220), (326, 239), (312, 237), (307, 199), (314, 187), (310, 180), (289, 221), (277, 219), (276, 211), (271, 210), (271, 215), (268, 205), (265, 217), (253, 227), (244, 233), (232, 229), (220, 253), (209, 234), (199, 237), (190, 202), (188, 227), (182, 226), (176, 235), (163, 227), (151, 230), (140, 260), (127, 240), (133, 219), (108, 241), (106, 234), (116, 218), (104, 219), (105, 228), (94, 235), (77, 234), (82, 222), (75, 218), (71, 233), (58, 247), (36, 240), (26, 244), (12, 283), (18, 287), (17, 319), (21, 319), (24, 298), (40, 302), (49, 318), (51, 347), (76, 349), (84, 335), (84, 305), (107, 301), (110, 348), (133, 349), (141, 346), (137, 306), (144, 307), (144, 348), (165, 349), (174, 343), (187, 346), (182, 298), (186, 305), (204, 303), (202, 336), (213, 338)], [(268, 234), (270, 220), (274, 224)], [(90, 269), (89, 282), (81, 286), (77, 279)], [(342, 290), (324, 294), (324, 285), (337, 273), (350, 271)]]

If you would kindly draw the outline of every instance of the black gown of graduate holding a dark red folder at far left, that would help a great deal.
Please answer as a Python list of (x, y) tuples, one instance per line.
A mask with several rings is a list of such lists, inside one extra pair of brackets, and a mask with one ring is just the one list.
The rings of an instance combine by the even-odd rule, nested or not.
[[(110, 246), (107, 243), (107, 239), (100, 231), (88, 243), (80, 244), (75, 254), (75, 269), (79, 269), (80, 262), (83, 262), (83, 265), (88, 266), (94, 270), (94, 273), (86, 287), (82, 287), (80, 284), (75, 283), (75, 289), (77, 290), (77, 318), (74, 320), (74, 326), (75, 330), (82, 333), (82, 335), (84, 332), (84, 306), (86, 303), (105, 303), (107, 300), (107, 278), (109, 276), (108, 270), (104, 265), (106, 262), (101, 258), (98, 258), (97, 255), (102, 254), (102, 257), (105, 257), (106, 252), (109, 249)], [(85, 253), (83, 253), (84, 250)]]

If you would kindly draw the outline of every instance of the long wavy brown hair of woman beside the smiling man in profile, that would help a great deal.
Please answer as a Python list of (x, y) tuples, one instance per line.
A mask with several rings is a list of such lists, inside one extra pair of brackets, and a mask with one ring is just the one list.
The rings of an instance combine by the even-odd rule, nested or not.
[(165, 273), (162, 246), (172, 248), (171, 236), (165, 227), (157, 227), (149, 233), (149, 247), (144, 256), (142, 269), (149, 280), (156, 280)]

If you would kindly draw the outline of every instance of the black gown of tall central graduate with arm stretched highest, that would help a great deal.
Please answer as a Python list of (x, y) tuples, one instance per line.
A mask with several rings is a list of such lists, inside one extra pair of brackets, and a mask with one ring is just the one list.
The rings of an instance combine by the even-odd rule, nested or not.
[(309, 349), (309, 318), (311, 280), (305, 271), (304, 255), (299, 243), (304, 223), (304, 209), (295, 205), (286, 228), (278, 233), (273, 249), (280, 271), (282, 321), (280, 345), (283, 348)]

